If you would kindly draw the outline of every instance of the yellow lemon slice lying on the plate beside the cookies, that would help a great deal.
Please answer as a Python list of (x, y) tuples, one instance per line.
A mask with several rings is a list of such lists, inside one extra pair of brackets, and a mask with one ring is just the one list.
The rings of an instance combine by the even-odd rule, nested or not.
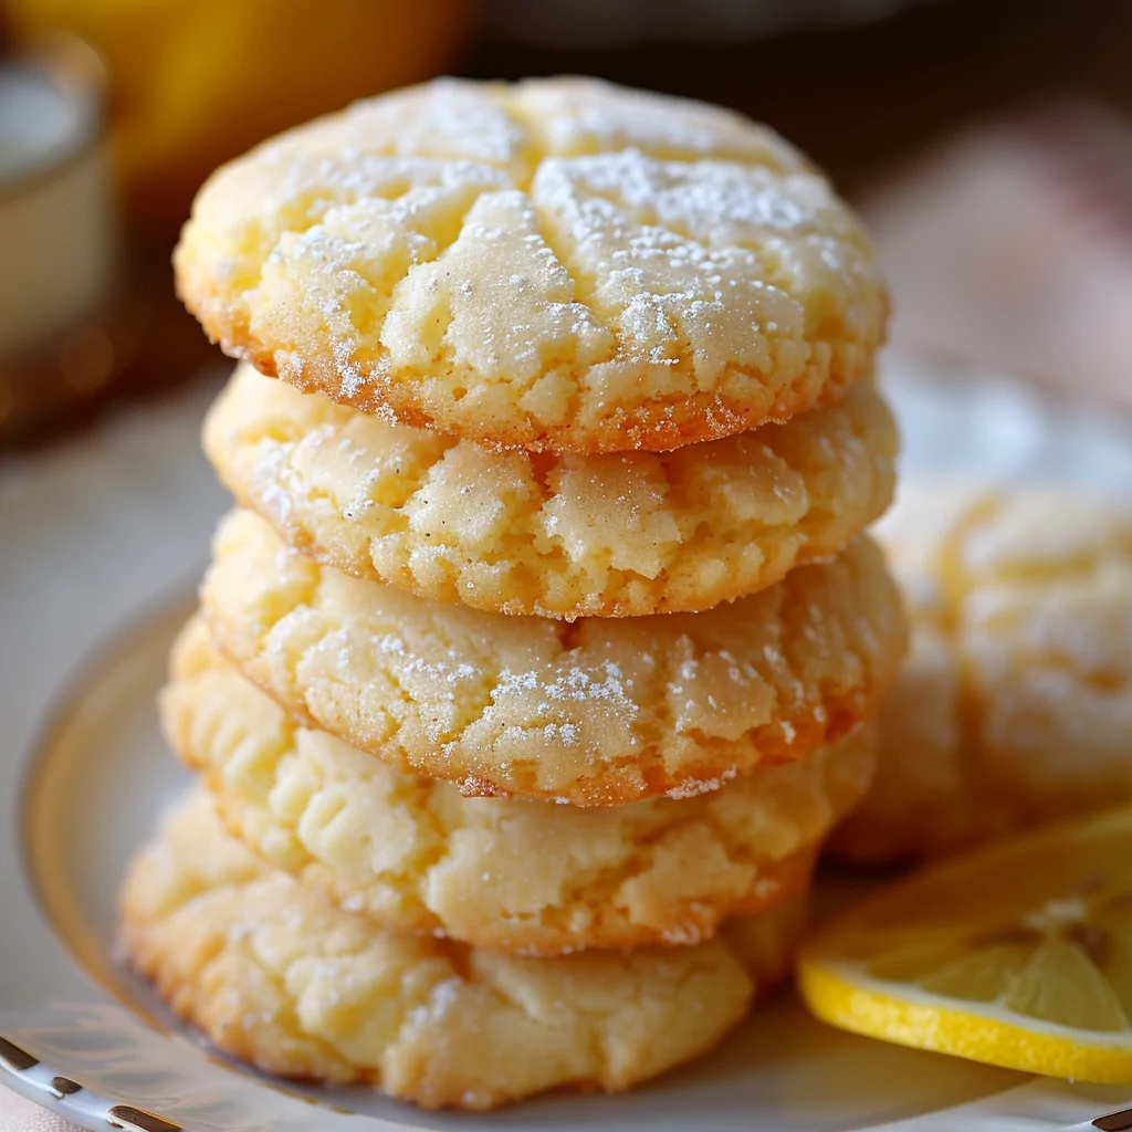
[(1132, 809), (1011, 840), (849, 908), (799, 957), (824, 1021), (1080, 1081), (1132, 1081)]

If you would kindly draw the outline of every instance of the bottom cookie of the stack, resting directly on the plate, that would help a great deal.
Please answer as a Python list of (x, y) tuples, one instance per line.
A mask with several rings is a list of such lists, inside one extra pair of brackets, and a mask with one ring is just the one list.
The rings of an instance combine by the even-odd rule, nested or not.
[(744, 925), (734, 947), (557, 959), (394, 935), (260, 865), (195, 794), (132, 863), (121, 937), (182, 1019), (268, 1073), (483, 1109), (700, 1056), (786, 974), (803, 912)]

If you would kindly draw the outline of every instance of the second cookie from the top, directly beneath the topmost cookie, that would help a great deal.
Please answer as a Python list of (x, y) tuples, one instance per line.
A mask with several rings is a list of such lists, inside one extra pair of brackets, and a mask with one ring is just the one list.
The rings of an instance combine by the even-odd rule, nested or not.
[(892, 499), (897, 431), (837, 405), (667, 454), (495, 452), (239, 367), (205, 451), (240, 503), (320, 561), (506, 614), (707, 609), (829, 558)]

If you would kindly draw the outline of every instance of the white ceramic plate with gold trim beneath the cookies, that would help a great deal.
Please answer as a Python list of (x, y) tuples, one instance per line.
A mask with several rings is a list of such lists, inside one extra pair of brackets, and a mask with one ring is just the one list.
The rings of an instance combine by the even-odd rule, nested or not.
[[(0, 469), (0, 1083), (91, 1129), (1064, 1129), (1132, 1105), (1104, 1089), (873, 1043), (783, 993), (713, 1056), (623, 1097), (487, 1116), (359, 1089), (281, 1087), (175, 1027), (115, 961), (127, 857), (185, 784), (153, 710), (225, 501), (197, 452), (208, 389), (29, 468)], [(914, 470), (1132, 491), (1132, 437), (1017, 387), (890, 380)], [(1082, 1125), (1086, 1126), (1086, 1125)], [(1113, 1127), (1132, 1127), (1129, 1123)]]

